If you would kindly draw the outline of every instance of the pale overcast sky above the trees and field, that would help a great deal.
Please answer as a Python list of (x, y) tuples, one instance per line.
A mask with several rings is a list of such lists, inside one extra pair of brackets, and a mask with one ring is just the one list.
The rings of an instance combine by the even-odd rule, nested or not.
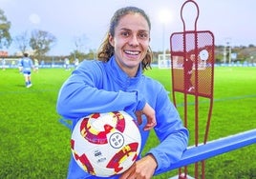
[[(24, 31), (46, 30), (57, 38), (49, 54), (65, 55), (75, 50), (75, 38), (83, 37), (84, 50), (96, 50), (104, 37), (113, 13), (124, 6), (137, 6), (146, 11), (152, 23), (152, 50), (169, 49), (169, 37), (183, 30), (181, 6), (184, 0), (0, 0), (11, 21), (11, 36)], [(197, 0), (200, 15), (198, 30), (210, 30), (215, 44), (232, 46), (256, 45), (255, 0)], [(165, 25), (160, 20), (167, 11)], [(196, 7), (186, 4), (182, 16), (186, 30), (194, 30)], [(163, 28), (164, 27), (164, 28)], [(163, 41), (164, 38), (164, 41)], [(16, 49), (13, 46), (9, 53)]]

